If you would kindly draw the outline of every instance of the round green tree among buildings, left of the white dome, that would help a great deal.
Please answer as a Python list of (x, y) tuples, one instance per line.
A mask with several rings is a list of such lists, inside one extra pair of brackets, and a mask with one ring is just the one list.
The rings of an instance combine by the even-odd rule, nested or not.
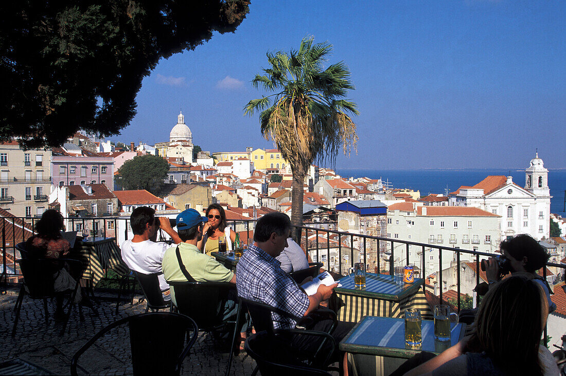
[(116, 179), (123, 189), (145, 189), (157, 195), (168, 171), (169, 163), (164, 158), (151, 154), (138, 155), (118, 168)]

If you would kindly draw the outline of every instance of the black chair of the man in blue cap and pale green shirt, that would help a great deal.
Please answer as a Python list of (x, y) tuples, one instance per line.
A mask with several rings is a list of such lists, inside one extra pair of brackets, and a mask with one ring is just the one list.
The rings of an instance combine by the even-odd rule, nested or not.
[[(230, 374), (234, 353), (238, 324), (240, 322), (241, 304), (235, 295), (235, 286), (228, 282), (174, 282), (168, 281), (175, 294), (175, 307), (179, 313), (192, 317), (200, 331), (213, 331), (234, 324), (234, 332), (226, 366), (226, 375)], [(236, 299), (236, 319), (224, 321), (224, 305), (233, 291)]]

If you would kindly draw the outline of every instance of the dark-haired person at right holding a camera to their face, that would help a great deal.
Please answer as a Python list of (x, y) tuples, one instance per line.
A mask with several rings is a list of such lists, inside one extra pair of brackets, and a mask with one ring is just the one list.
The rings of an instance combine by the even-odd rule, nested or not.
[(548, 261), (546, 249), (527, 234), (501, 241), (500, 249), (499, 258), (490, 257), (487, 261), (482, 261), (482, 269), (486, 271), (490, 288), (505, 274), (525, 274), (541, 286), (548, 301), (548, 312), (553, 312), (556, 304), (550, 299), (552, 290), (546, 279), (536, 273)]

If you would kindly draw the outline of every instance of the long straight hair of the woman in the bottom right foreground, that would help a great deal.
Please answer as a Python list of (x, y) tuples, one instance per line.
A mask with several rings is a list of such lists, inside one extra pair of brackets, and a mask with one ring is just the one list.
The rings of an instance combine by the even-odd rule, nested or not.
[(546, 299), (526, 276), (510, 276), (483, 297), (469, 350), (485, 351), (505, 374), (542, 375), (538, 348), (544, 329)]

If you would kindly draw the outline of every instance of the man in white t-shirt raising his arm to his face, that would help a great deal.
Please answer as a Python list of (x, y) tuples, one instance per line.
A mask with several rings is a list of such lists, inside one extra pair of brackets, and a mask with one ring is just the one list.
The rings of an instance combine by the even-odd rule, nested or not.
[(122, 243), (122, 260), (134, 271), (143, 274), (158, 273), (159, 287), (164, 300), (171, 300), (169, 284), (165, 281), (161, 271), (161, 262), (167, 243), (154, 241), (159, 227), (165, 231), (175, 244), (181, 243), (177, 232), (171, 228), (169, 218), (158, 217), (160, 226), (156, 225), (155, 210), (147, 206), (140, 206), (132, 211), (130, 224), (134, 237)]

